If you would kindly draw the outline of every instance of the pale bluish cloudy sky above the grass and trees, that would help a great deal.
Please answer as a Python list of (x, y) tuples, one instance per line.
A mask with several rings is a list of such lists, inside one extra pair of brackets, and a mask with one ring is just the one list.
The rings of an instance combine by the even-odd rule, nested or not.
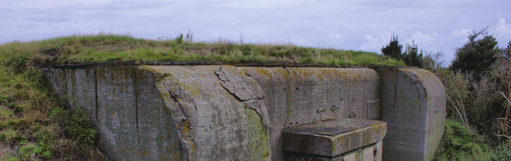
[(509, 0), (1, 0), (0, 43), (99, 32), (157, 39), (191, 28), (196, 40), (239, 40), (243, 32), (245, 42), (380, 53), (395, 33), (450, 62), (472, 30), (489, 27), (504, 47), (509, 7)]

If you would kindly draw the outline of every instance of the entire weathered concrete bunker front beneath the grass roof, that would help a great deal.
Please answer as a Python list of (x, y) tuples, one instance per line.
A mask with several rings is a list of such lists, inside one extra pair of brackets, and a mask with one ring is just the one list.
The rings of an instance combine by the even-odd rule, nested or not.
[(285, 131), (346, 119), (380, 132), (330, 155), (382, 146), (383, 160), (431, 160), (444, 132), (444, 87), (417, 68), (91, 64), (45, 74), (89, 114), (113, 160), (283, 160), (293, 152)]

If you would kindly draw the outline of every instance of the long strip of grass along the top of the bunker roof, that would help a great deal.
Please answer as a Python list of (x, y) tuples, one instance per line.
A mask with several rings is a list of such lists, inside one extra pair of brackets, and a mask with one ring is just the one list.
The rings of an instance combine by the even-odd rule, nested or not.
[[(305, 48), (292, 44), (240, 44), (229, 40), (190, 42), (181, 37), (147, 40), (128, 35), (75, 35), (0, 46), (7, 58), (28, 57), (38, 65), (117, 60), (205, 60), (225, 63), (290, 62), (335, 65), (404, 65), (377, 53)], [(3, 59), (6, 56), (2, 56)]]

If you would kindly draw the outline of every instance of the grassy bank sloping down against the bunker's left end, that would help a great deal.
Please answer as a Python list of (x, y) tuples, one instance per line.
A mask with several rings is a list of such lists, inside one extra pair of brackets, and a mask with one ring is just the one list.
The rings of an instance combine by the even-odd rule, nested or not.
[(88, 117), (61, 108), (49, 90), (39, 67), (54, 57), (39, 43), (51, 42), (0, 46), (0, 160), (105, 159)]

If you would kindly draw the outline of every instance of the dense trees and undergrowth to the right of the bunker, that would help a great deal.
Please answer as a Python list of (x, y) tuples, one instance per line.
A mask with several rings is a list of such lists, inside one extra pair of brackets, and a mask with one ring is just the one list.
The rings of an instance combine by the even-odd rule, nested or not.
[(434, 72), (447, 94), (446, 131), (435, 160), (511, 160), (511, 41), (500, 49), (486, 29), (469, 33), (451, 66), (442, 53), (423, 57), (392, 35), (382, 53)]

